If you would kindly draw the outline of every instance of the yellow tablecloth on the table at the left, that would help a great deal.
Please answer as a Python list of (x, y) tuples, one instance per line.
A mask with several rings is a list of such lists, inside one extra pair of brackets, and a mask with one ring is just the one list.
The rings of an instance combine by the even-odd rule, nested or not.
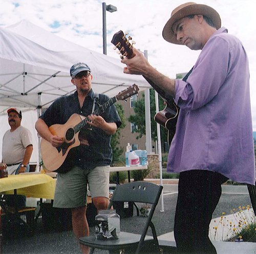
[(56, 180), (47, 174), (17, 174), (0, 179), (0, 194), (54, 199)]

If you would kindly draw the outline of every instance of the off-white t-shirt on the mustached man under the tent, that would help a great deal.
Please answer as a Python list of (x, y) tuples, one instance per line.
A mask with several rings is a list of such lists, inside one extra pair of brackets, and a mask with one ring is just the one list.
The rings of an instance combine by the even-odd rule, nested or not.
[(32, 135), (27, 128), (20, 125), (14, 132), (8, 130), (3, 138), (3, 162), (6, 164), (22, 162), (28, 145), (32, 145)]

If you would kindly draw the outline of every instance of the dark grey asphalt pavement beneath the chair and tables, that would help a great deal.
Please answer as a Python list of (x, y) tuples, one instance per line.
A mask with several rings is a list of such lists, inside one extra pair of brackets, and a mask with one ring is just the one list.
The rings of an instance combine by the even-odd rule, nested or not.
[[(153, 216), (153, 223), (156, 226), (157, 235), (163, 235), (172, 232), (174, 229), (174, 216), (177, 201), (177, 193), (170, 193), (167, 186), (163, 192), (164, 212), (161, 211), (161, 201), (156, 208)], [(249, 194), (222, 194), (219, 204), (212, 218), (218, 218), (225, 214), (230, 214), (232, 209), (238, 209), (239, 206), (251, 206)], [(121, 231), (138, 233), (141, 231), (144, 218), (134, 216), (122, 218), (120, 220)], [(4, 237), (3, 254), (80, 254), (80, 248), (73, 235), (73, 231), (60, 230), (53, 225), (53, 229), (46, 230), (42, 224), (42, 219), (37, 222), (36, 232), (29, 236), (24, 232), (24, 228), (16, 228), (11, 237)], [(94, 226), (90, 227), (90, 234), (94, 235)], [(151, 235), (151, 232), (149, 233)], [(106, 250), (95, 250), (96, 254), (106, 254)]]

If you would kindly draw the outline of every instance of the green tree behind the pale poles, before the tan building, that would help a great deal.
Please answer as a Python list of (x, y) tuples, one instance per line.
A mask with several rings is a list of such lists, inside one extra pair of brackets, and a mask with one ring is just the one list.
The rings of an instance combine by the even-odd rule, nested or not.
[[(164, 100), (158, 96), (158, 104), (159, 104), (159, 111), (165, 108)], [(145, 95), (142, 95), (142, 98), (137, 99), (134, 102), (134, 113), (135, 115), (130, 115), (127, 120), (129, 122), (134, 123), (137, 125), (137, 128), (134, 132), (138, 133), (137, 139), (141, 138), (143, 135), (146, 134), (146, 126), (145, 126)], [(155, 104), (155, 90), (150, 89), (150, 110), (151, 110), (151, 138), (156, 141), (157, 139), (157, 124), (154, 120), (154, 116), (156, 114), (156, 104)], [(167, 130), (160, 125), (161, 130), (161, 143), (162, 145), (164, 142), (167, 142)]]

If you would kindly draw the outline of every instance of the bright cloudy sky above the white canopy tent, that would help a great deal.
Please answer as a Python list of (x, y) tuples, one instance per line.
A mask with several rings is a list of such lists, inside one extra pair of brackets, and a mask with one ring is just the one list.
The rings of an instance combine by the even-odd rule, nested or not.
[[(117, 7), (106, 12), (107, 54), (119, 58), (111, 44), (113, 35), (122, 30), (136, 41), (148, 61), (158, 71), (175, 78), (188, 72), (200, 50), (166, 42), (162, 30), (171, 12), (187, 1), (182, 0), (0, 0), (0, 26), (5, 28), (26, 19), (96, 52), (103, 53), (102, 2)], [(256, 131), (256, 17), (255, 0), (201, 0), (221, 16), (222, 26), (243, 43), (250, 68), (250, 94), (253, 131)], [(86, 59), (84, 60), (86, 62)]]

